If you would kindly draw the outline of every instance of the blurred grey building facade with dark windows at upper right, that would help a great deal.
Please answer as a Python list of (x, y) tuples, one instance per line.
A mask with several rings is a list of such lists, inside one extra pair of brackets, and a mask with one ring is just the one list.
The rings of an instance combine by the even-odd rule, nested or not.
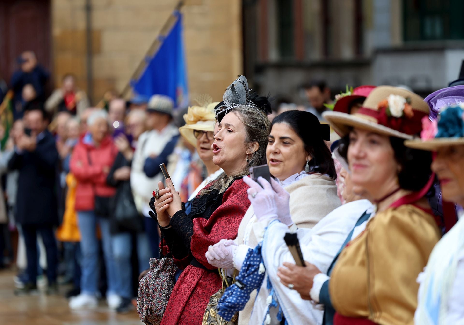
[(462, 0), (244, 1), (245, 75), (262, 93), (307, 105), (301, 86), (324, 79), (410, 87), (426, 96), (458, 78)]

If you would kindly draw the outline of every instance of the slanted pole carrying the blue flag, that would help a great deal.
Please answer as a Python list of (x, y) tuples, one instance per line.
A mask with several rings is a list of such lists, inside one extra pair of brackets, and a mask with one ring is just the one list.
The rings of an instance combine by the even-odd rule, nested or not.
[[(146, 66), (148, 64), (147, 61), (146, 61), (146, 58), (147, 57), (153, 57), (156, 54), (156, 52), (158, 52), (158, 50), (161, 48), (161, 45), (163, 43), (163, 38), (165, 38), (168, 35), (168, 32), (171, 30), (171, 28), (174, 26), (174, 24), (177, 21), (177, 17), (176, 17), (176, 15), (174, 15), (174, 13), (177, 12), (177, 11), (180, 11), (180, 8), (182, 8), (183, 5), (184, 5), (184, 0), (180, 0), (177, 3), (177, 5), (174, 7), (173, 12), (169, 15), (168, 19), (166, 20), (166, 22), (161, 27), (160, 33), (156, 36), (155, 40), (153, 41), (153, 43), (148, 48), (147, 53), (143, 56), (143, 58), (140, 61), (139, 65), (137, 66), (134, 73), (130, 77), (129, 82), (126, 83), (126, 86), (124, 87), (124, 89), (122, 89), (122, 92), (121, 92), (121, 95), (120, 95), (122, 98), (125, 98), (128, 95), (129, 91), (132, 89), (132, 86), (130, 84), (131, 81), (138, 79), (140, 77), (140, 75), (142, 74), (143, 70), (145, 70), (145, 68), (146, 68)], [(98, 103), (97, 107), (104, 107), (103, 100), (104, 99), (102, 99)]]

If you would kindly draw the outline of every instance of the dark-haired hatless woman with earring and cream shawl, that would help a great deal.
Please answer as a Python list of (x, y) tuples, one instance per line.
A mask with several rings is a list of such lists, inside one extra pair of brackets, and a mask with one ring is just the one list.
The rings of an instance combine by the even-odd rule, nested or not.
[[(340, 205), (334, 160), (324, 142), (329, 139), (329, 125), (321, 124), (308, 112), (286, 111), (272, 121), (266, 159), (271, 175), (290, 193), (286, 225), (291, 230), (313, 228)], [(264, 227), (258, 222), (261, 213), (250, 207), (235, 241), (221, 240), (208, 249), (209, 263), (218, 268), (240, 270), (248, 251), (262, 240)], [(254, 297), (239, 312), (238, 324), (249, 323), (253, 305)]]

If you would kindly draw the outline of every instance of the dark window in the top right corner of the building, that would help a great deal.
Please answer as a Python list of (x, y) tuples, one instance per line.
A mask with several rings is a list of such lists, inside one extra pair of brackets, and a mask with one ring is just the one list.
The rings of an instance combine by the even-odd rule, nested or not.
[(405, 41), (463, 39), (463, 0), (403, 0)]

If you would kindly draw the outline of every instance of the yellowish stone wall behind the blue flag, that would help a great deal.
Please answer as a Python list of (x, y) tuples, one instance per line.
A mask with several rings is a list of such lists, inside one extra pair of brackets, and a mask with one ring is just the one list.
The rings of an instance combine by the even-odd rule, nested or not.
[[(91, 0), (92, 103), (122, 91), (177, 0)], [(243, 70), (239, 0), (186, 0), (184, 41), (190, 96), (219, 101)], [(77, 76), (87, 89), (85, 0), (52, 1), (54, 80)]]

